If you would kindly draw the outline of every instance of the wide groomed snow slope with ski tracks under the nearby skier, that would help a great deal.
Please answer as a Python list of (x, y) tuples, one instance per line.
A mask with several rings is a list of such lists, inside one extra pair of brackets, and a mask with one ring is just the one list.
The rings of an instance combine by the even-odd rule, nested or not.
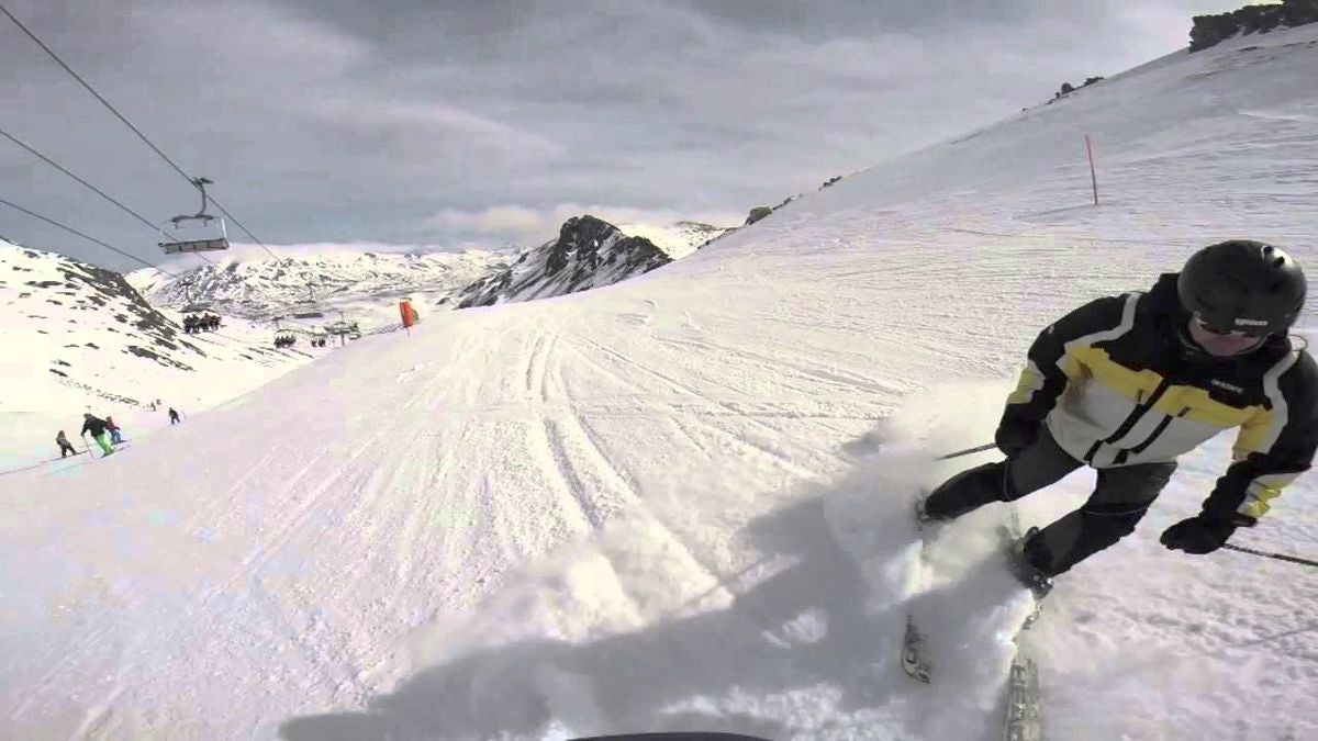
[[(970, 643), (932, 687), (898, 668), (909, 489), (954, 469), (912, 451), (987, 439), (1049, 319), (1194, 247), (1318, 265), (1314, 69), (1314, 28), (1173, 54), (642, 278), (435, 315), (125, 455), (4, 480), (0, 728), (992, 738), (1019, 600), (966, 554), (1000, 508), (944, 531), (917, 597)], [(1318, 579), (1157, 545), (1228, 443), (1049, 597), (1049, 738), (1318, 737)], [(1239, 542), (1318, 552), (1315, 497), (1302, 479)]]

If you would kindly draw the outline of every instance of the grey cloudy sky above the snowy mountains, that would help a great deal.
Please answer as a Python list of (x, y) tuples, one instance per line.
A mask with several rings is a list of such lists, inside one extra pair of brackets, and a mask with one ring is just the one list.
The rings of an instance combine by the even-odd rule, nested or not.
[[(266, 244), (739, 223), (1185, 46), (1240, 0), (0, 0)], [(0, 15), (0, 131), (149, 220), (198, 198)], [(0, 137), (0, 198), (158, 260)], [(231, 227), (235, 239), (244, 240)], [(0, 236), (140, 266), (0, 204)]]

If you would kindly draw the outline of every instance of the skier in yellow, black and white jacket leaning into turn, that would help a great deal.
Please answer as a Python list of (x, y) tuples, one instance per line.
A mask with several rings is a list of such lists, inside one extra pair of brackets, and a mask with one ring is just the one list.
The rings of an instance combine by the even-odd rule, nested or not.
[(994, 438), (1007, 459), (933, 490), (921, 517), (945, 521), (1015, 501), (1081, 465), (1098, 485), (1077, 510), (1019, 545), (1017, 576), (1036, 596), (1052, 578), (1114, 545), (1176, 471), (1176, 459), (1239, 427), (1232, 463), (1202, 510), (1164, 546), (1222, 547), (1251, 527), (1318, 447), (1318, 367), (1286, 336), (1305, 301), (1281, 249), (1231, 240), (1195, 252), (1147, 291), (1099, 298), (1039, 335)]

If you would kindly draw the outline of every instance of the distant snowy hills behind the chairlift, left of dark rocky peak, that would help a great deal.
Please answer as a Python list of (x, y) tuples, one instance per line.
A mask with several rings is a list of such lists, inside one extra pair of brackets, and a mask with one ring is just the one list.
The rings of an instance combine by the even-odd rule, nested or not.
[[(279, 254), (281, 248), (274, 249)], [(486, 251), (398, 254), (340, 248), (278, 258), (250, 252), (241, 258), (214, 253), (215, 265), (173, 270), (178, 280), (144, 268), (129, 273), (128, 281), (153, 306), (214, 302), (224, 315), (254, 322), (306, 311), (314, 298), (326, 322), (337, 320), (343, 311), (366, 330), (397, 323), (402, 298), (411, 298), (423, 315), (451, 309), (459, 291), (510, 261), (509, 254)]]

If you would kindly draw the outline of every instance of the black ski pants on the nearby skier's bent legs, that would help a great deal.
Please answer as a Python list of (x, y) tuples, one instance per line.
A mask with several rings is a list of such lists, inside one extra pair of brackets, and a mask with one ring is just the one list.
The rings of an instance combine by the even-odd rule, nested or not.
[[(991, 501), (1015, 501), (1056, 484), (1081, 465), (1044, 426), (1039, 439), (1015, 456), (971, 468), (938, 487), (925, 500), (925, 512), (936, 519), (950, 519)], [(1031, 537), (1025, 560), (1056, 576), (1130, 535), (1174, 471), (1174, 461), (1099, 468), (1094, 493), (1079, 509)]]

